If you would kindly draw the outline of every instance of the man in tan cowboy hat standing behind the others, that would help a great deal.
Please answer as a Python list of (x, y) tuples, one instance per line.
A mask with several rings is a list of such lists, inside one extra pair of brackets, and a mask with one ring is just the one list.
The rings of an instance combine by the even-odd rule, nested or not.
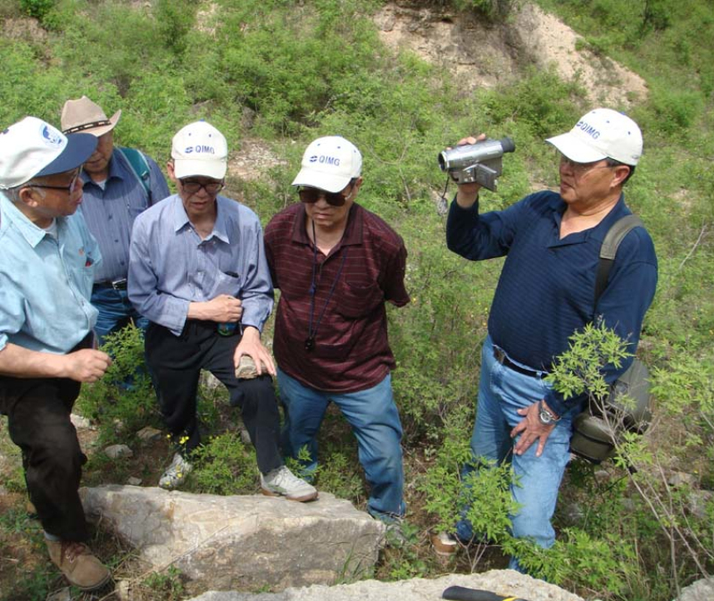
[(82, 132), (97, 139), (81, 176), (84, 200), (80, 211), (103, 257), (92, 288), (92, 305), (99, 311), (95, 325), (99, 344), (129, 321), (146, 329), (146, 319), (127, 295), (129, 236), (137, 215), (169, 196), (166, 179), (153, 159), (135, 148), (114, 145), (120, 116), (119, 110), (107, 118), (102, 107), (87, 96), (68, 100), (62, 107), (64, 134)]

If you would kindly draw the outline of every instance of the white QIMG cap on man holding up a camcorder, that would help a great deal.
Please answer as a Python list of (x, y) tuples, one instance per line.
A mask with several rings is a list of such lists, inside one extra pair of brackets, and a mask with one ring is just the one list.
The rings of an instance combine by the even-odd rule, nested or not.
[(636, 165), (642, 156), (642, 132), (627, 115), (598, 108), (581, 117), (567, 134), (545, 140), (575, 163), (615, 159)]

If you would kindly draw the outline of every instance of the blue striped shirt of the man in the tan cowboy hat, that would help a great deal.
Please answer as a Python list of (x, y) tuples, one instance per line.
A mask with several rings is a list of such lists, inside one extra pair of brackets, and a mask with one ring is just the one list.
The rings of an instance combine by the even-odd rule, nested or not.
[[(151, 191), (154, 204), (169, 196), (159, 166), (148, 156), (151, 170)], [(102, 249), (102, 264), (95, 271), (95, 281), (120, 280), (129, 271), (129, 235), (134, 220), (145, 211), (147, 204), (144, 186), (123, 154), (116, 149), (109, 163), (109, 174), (104, 189), (95, 184), (87, 173), (82, 173), (84, 195), (79, 211), (87, 227)]]

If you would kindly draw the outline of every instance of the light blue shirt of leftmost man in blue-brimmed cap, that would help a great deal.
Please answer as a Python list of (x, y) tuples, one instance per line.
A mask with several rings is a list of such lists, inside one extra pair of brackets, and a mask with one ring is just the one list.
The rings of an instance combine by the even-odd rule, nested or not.
[(0, 350), (11, 343), (62, 355), (95, 325), (99, 247), (79, 213), (56, 223), (54, 238), (0, 192)]

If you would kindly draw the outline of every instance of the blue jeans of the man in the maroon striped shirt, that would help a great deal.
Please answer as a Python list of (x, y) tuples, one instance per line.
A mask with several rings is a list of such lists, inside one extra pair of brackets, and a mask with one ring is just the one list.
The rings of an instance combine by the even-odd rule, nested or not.
[(389, 522), (403, 516), (404, 472), (402, 423), (392, 396), (392, 377), (359, 392), (323, 392), (303, 386), (278, 369), (280, 401), (285, 408), (283, 452), (297, 458), (302, 447), (310, 452), (306, 472), (318, 466), (317, 433), (330, 402), (335, 403), (357, 438), (360, 463), (371, 488), (367, 511)]

